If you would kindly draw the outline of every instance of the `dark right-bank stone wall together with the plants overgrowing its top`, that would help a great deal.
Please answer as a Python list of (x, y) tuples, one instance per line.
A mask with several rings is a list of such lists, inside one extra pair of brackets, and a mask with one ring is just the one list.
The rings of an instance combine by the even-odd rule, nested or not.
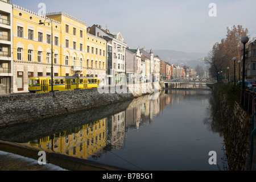
[(232, 85), (216, 84), (213, 94), (219, 103), (226, 155), (231, 171), (249, 170), (249, 125), (251, 115), (240, 105), (240, 93)]

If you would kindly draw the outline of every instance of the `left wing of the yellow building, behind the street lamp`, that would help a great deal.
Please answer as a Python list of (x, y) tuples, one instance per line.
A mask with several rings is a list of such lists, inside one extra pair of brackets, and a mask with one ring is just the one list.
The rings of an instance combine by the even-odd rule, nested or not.
[(61, 24), (13, 5), (13, 92), (28, 91), (29, 77), (51, 76), (52, 35), (53, 76), (60, 76)]

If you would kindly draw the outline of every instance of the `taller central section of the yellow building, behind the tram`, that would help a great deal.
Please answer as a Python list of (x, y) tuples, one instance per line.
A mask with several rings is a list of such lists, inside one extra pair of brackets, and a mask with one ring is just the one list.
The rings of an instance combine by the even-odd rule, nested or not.
[(86, 23), (63, 12), (48, 13), (46, 16), (61, 24), (60, 76), (86, 76)]

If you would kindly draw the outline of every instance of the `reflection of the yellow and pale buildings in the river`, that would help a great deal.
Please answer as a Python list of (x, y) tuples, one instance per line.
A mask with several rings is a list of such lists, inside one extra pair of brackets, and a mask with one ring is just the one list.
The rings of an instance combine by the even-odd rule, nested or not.
[[(179, 92), (179, 94), (172, 94)], [(193, 90), (164, 90), (156, 100), (148, 100), (148, 96), (134, 99), (126, 110), (96, 122), (79, 126), (75, 131), (66, 130), (30, 142), (39, 150), (56, 152), (76, 158), (99, 158), (111, 148), (120, 149), (125, 143), (125, 133), (130, 129), (139, 130), (140, 126), (153, 122), (165, 107), (173, 102), (185, 100), (198, 94)], [(208, 98), (206, 98), (208, 99)]]

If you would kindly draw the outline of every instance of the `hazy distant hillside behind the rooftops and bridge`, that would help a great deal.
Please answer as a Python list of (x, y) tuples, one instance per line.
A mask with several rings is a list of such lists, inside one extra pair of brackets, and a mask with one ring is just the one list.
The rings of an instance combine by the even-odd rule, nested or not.
[(197, 65), (200, 65), (204, 69), (206, 67), (203, 60), (203, 58), (207, 56), (206, 53), (188, 53), (173, 50), (153, 50), (153, 52), (154, 56), (158, 55), (160, 59), (170, 64), (180, 65), (181, 67), (187, 65), (193, 69), (195, 69)]

